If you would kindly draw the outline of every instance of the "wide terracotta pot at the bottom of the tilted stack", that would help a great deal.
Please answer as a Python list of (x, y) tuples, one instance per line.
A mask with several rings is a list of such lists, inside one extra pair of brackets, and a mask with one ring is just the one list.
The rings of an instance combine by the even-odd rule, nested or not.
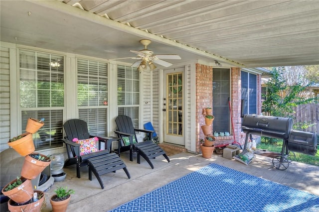
[(34, 191), (38, 194), (38, 197), (41, 196), (41, 198), (33, 202), (33, 200), (30, 200), (29, 204), (25, 205), (17, 205), (13, 200), (8, 201), (8, 209), (10, 212), (40, 212), (41, 207), (43, 204), (43, 201), (45, 200), (44, 198), (44, 192), (42, 191)]

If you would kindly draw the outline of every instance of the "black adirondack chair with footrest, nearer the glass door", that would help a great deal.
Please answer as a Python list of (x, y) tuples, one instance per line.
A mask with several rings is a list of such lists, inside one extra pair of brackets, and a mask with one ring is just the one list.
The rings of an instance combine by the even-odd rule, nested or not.
[[(154, 165), (151, 162), (151, 158), (155, 158), (157, 156), (163, 155), (165, 159), (170, 162), (169, 158), (167, 157), (166, 153), (160, 146), (152, 141), (154, 130), (146, 130), (146, 129), (137, 129), (134, 128), (132, 119), (127, 115), (119, 115), (115, 119), (116, 125), (118, 127), (118, 130), (114, 131), (116, 134), (118, 134), (119, 137), (122, 138), (122, 140), (127, 140), (129, 138), (129, 145), (125, 146), (122, 145), (122, 142), (120, 142), (119, 145), (119, 153), (120, 149), (124, 149), (125, 147), (129, 147), (124, 150), (130, 150), (130, 161), (133, 161), (133, 152), (137, 152), (137, 162), (141, 163), (141, 157), (142, 156), (154, 169)], [(149, 140), (138, 142), (138, 139), (136, 137), (135, 132), (145, 132), (148, 134)], [(125, 142), (123, 142), (125, 144)], [(123, 148), (124, 147), (124, 148)]]

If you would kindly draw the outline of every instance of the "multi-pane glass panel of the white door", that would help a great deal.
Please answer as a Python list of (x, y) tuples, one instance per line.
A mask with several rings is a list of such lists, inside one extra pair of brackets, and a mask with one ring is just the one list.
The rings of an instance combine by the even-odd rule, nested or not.
[(166, 106), (166, 132), (171, 135), (182, 135), (182, 102), (183, 85), (182, 73), (167, 74), (167, 106)]

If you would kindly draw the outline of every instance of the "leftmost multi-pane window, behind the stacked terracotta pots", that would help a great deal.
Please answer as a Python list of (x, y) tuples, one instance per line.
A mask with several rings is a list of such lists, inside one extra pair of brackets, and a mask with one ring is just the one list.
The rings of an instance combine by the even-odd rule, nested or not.
[(62, 146), (64, 57), (20, 50), (19, 70), (21, 129), (29, 117), (45, 118), (33, 134), (36, 150)]

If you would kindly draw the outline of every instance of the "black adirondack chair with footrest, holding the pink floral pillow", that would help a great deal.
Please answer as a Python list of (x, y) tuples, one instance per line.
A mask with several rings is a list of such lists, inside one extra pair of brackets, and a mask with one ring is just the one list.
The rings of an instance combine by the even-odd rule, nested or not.
[[(130, 179), (130, 173), (126, 168), (123, 160), (116, 153), (110, 153), (111, 143), (113, 140), (118, 140), (115, 137), (95, 136), (99, 140), (98, 150), (88, 154), (80, 154), (80, 143), (73, 142), (74, 138), (78, 140), (92, 138), (89, 134), (87, 123), (80, 119), (70, 119), (63, 125), (66, 139), (63, 142), (66, 146), (68, 159), (64, 163), (64, 167), (76, 164), (76, 176), (81, 177), (81, 167), (89, 167), (89, 179), (92, 180), (92, 172), (98, 179), (101, 188), (104, 188), (100, 175), (116, 170), (123, 169)], [(101, 149), (101, 142), (105, 142), (105, 149)]]

